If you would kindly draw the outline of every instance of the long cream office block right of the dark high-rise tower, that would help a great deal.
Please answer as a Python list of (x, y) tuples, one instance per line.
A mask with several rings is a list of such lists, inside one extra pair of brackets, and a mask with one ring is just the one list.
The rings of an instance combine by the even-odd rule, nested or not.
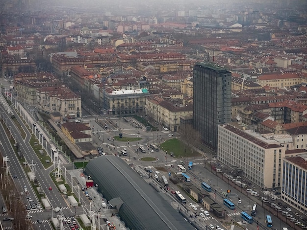
[(246, 125), (230, 123), (218, 127), (218, 160), (260, 188), (281, 186), (281, 161), (286, 145), (292, 146), (289, 135), (260, 135)]

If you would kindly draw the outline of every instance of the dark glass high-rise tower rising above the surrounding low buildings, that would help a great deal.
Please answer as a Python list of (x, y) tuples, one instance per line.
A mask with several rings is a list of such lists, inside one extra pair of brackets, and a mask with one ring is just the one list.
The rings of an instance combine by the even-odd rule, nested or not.
[(216, 150), (218, 125), (230, 122), (231, 73), (215, 64), (197, 63), (193, 85), (193, 127), (204, 145)]

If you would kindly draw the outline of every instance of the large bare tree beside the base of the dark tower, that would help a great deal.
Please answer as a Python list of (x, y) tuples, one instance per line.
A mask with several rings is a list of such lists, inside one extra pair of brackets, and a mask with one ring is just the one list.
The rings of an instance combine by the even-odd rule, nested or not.
[(187, 151), (191, 150), (194, 152), (194, 146), (197, 142), (200, 141), (200, 133), (193, 129), (191, 124), (186, 124), (180, 127), (180, 140), (182, 142), (182, 148), (184, 149), (185, 155), (187, 155)]

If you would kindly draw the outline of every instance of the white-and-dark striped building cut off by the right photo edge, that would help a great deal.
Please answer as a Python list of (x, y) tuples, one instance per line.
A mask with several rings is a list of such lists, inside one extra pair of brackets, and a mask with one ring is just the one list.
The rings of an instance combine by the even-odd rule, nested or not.
[(282, 159), (281, 200), (307, 212), (307, 154)]

